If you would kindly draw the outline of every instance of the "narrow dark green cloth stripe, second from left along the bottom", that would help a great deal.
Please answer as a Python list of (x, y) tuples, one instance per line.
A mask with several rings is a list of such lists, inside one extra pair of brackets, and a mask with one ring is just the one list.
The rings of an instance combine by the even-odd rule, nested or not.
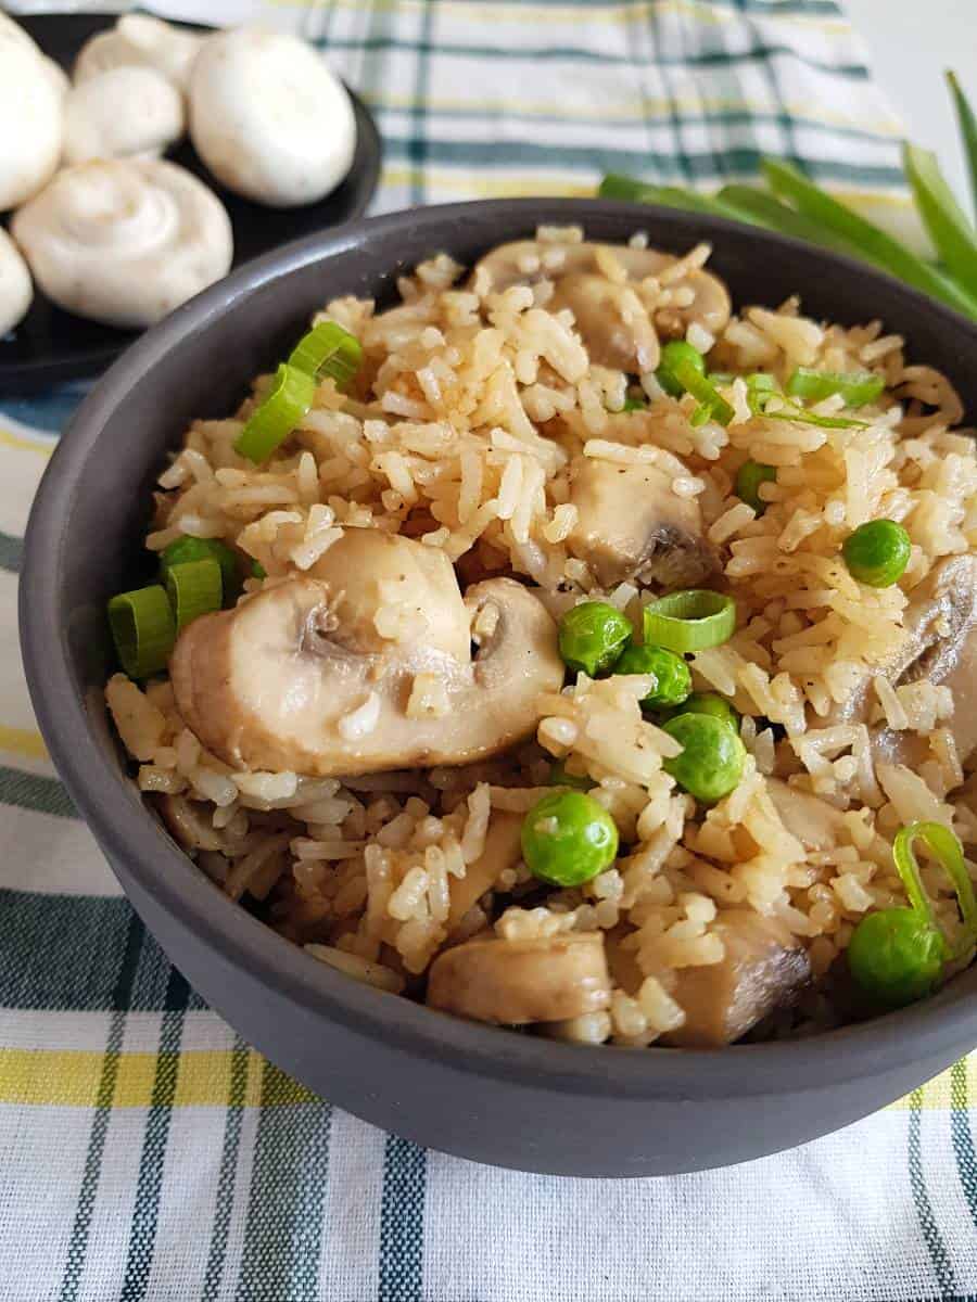
[(172, 1104), (180, 1070), (180, 1040), (189, 995), (190, 987), (176, 967), (171, 967), (167, 982), (165, 1013), (159, 1035), (156, 1074), (152, 1081), (152, 1101), (146, 1118), (146, 1133), (139, 1157), (139, 1180), (135, 1186), (135, 1206), (129, 1230), (129, 1253), (120, 1302), (142, 1302), (150, 1282), (152, 1253), (156, 1245), (159, 1199), (163, 1187), (163, 1163), (167, 1155), (169, 1121), (173, 1115)]

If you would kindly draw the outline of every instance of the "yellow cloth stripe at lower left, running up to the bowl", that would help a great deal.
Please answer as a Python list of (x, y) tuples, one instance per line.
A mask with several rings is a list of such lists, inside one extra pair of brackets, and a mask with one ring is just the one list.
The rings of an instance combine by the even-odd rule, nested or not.
[[(180, 1055), (173, 1107), (225, 1107), (231, 1095), (232, 1049), (190, 1049)], [(98, 1099), (104, 1055), (95, 1049), (0, 1049), (0, 1104), (91, 1108)], [(155, 1053), (122, 1053), (119, 1059), (113, 1108), (147, 1108), (156, 1078)], [(248, 1053), (245, 1107), (262, 1099), (262, 1074), (272, 1070), (281, 1085), (266, 1091), (275, 1105), (317, 1103), (317, 1096), (266, 1064), (257, 1049)]]

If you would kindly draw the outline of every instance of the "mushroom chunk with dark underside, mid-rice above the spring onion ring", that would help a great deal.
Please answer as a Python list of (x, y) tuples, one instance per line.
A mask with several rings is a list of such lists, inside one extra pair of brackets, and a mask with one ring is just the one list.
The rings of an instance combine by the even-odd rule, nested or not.
[(571, 501), (577, 523), (568, 547), (604, 587), (634, 577), (689, 587), (719, 568), (702, 534), (698, 503), (673, 492), (671, 478), (655, 465), (577, 457)]

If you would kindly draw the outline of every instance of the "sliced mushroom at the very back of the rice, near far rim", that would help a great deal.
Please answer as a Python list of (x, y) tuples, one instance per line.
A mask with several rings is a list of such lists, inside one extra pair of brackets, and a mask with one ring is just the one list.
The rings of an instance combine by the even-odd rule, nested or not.
[[(624, 270), (625, 281), (619, 285), (602, 272), (601, 263), (614, 258)], [(569, 307), (577, 316), (581, 339), (590, 350), (591, 359), (604, 358), (602, 365), (625, 371), (654, 370), (657, 340), (651, 345), (646, 333), (647, 316), (634, 312), (623, 289), (632, 292), (649, 276), (660, 276), (679, 259), (654, 249), (630, 249), (627, 245), (576, 243), (554, 245), (535, 240), (518, 240), (499, 245), (475, 264), (472, 283), (485, 280), (487, 273), (496, 292), (511, 285), (533, 285), (539, 280), (552, 280), (556, 285), (552, 303)], [(594, 281), (608, 286), (598, 289)], [(616, 286), (611, 289), (610, 286)], [(692, 290), (692, 302), (684, 306), (667, 305), (653, 315), (654, 329), (659, 335), (684, 335), (693, 323), (713, 335), (729, 320), (729, 294), (726, 285), (707, 271), (694, 270), (680, 276), (671, 292)], [(684, 297), (684, 293), (680, 296)], [(644, 315), (644, 320), (642, 320)], [(629, 339), (629, 331), (632, 337)], [(642, 367), (642, 355), (653, 365)]]

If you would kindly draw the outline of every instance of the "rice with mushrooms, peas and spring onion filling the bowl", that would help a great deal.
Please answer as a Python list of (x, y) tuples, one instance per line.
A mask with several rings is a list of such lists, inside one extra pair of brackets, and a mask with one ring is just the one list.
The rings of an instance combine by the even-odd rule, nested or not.
[(882, 323), (733, 311), (709, 253), (434, 256), (160, 475), (108, 707), (310, 961), (700, 1047), (973, 958), (973, 431)]

